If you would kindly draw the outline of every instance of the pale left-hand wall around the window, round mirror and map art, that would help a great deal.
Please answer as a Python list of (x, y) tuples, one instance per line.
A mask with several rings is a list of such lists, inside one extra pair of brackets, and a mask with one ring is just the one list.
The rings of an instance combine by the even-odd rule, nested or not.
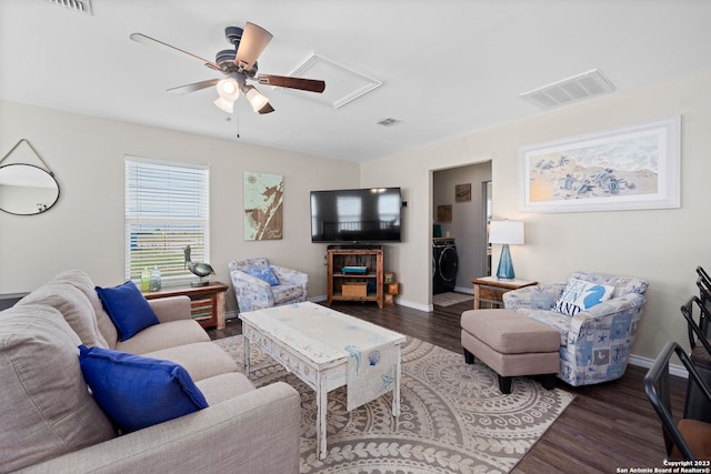
[[(357, 163), (0, 101), (0, 153), (22, 138), (61, 193), (39, 215), (0, 212), (0, 293), (30, 291), (67, 269), (86, 270), (99, 285), (123, 282), (123, 159), (131, 154), (209, 164), (214, 280), (230, 284), (230, 260), (268, 256), (308, 272), (310, 296), (326, 294), (326, 245), (311, 243), (309, 191), (358, 186)], [(284, 177), (282, 240), (244, 241), (246, 171)]]

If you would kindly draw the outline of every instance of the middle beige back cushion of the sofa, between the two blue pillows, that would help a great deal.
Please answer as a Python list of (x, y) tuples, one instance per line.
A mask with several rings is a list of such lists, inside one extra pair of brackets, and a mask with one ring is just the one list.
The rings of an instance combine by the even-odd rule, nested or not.
[(69, 326), (77, 333), (82, 344), (108, 347), (108, 343), (97, 326), (97, 317), (91, 302), (76, 286), (68, 283), (42, 285), (20, 300), (18, 305), (46, 304), (57, 309)]

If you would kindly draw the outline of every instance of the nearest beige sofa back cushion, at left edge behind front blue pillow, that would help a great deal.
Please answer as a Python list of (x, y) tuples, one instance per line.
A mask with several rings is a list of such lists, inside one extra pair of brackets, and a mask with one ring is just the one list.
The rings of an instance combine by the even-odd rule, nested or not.
[(79, 336), (58, 310), (0, 313), (0, 471), (14, 471), (114, 437), (79, 367)]

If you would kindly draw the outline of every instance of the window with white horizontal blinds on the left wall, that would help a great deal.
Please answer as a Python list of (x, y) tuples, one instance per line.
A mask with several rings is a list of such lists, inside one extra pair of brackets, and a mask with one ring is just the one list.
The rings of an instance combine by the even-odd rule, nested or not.
[(126, 157), (126, 278), (158, 265), (163, 280), (187, 280), (191, 260), (209, 261), (209, 169)]

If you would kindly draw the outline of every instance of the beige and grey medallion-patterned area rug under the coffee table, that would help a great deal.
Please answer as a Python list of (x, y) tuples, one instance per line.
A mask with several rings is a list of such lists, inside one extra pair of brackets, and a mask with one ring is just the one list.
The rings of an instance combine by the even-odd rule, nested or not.
[[(216, 341), (242, 364), (242, 336)], [(328, 457), (316, 455), (316, 396), (251, 346), (250, 380), (286, 381), (301, 394), (301, 472), (318, 474), (508, 473), (573, 400), (560, 389), (517, 377), (509, 395), (497, 374), (464, 356), (408, 337), (402, 350), (402, 411), (390, 395), (346, 410), (346, 387), (328, 396)]]

